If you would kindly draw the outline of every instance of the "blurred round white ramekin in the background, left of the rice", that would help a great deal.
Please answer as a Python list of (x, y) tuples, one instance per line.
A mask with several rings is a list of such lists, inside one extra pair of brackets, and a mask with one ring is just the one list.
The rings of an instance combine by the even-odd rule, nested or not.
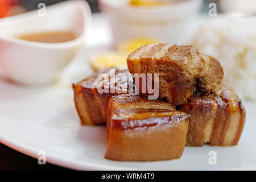
[(127, 0), (98, 2), (108, 15), (114, 43), (123, 39), (154, 38), (172, 44), (184, 41), (202, 3), (201, 0), (189, 0), (172, 5), (133, 7)]

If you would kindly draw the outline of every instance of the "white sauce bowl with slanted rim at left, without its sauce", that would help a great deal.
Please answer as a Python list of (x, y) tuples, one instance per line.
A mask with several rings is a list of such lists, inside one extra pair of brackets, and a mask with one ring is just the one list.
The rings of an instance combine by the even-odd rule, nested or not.
[[(5, 76), (23, 84), (56, 80), (82, 47), (90, 27), (91, 11), (85, 1), (67, 1), (0, 19), (0, 68)], [(16, 39), (24, 34), (72, 31), (77, 38), (64, 43), (40, 43)]]

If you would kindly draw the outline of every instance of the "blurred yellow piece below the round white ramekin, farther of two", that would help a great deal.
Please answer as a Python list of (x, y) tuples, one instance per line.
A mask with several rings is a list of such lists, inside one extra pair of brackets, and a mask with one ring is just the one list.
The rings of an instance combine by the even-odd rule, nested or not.
[(138, 38), (132, 40), (124, 40), (123, 42), (119, 43), (117, 49), (119, 51), (126, 51), (126, 52), (133, 52), (139, 47), (142, 47), (146, 44), (152, 43), (159, 43), (158, 40), (155, 39), (146, 39), (146, 38)]

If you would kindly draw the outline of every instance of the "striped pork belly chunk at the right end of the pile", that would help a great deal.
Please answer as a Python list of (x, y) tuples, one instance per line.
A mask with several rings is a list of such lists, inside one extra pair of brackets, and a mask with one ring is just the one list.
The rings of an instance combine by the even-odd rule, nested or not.
[(224, 86), (216, 96), (192, 96), (180, 111), (191, 115), (187, 145), (236, 145), (245, 125), (246, 111), (241, 100)]

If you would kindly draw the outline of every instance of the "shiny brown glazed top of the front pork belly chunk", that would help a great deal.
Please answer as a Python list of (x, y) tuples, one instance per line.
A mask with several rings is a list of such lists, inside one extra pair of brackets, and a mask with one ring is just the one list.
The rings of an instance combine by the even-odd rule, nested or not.
[(148, 100), (136, 94), (112, 96), (108, 105), (108, 130), (151, 127), (163, 123), (174, 123), (189, 118), (188, 114), (176, 111), (175, 107), (163, 100)]

